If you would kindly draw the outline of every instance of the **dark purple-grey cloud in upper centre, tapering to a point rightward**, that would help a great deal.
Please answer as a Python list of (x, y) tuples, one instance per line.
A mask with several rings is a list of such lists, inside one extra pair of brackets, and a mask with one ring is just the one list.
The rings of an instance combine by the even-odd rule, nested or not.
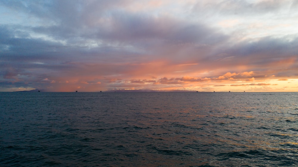
[[(128, 12), (114, 12), (108, 20), (109, 27), (100, 29), (97, 37), (112, 42), (129, 42), (146, 47), (150, 39), (163, 44), (221, 42), (227, 37), (200, 23), (188, 23), (165, 16), (153, 17)], [(156, 42), (153, 40), (152, 42)], [(141, 42), (142, 45), (139, 45)], [(149, 42), (149, 43), (148, 43)]]

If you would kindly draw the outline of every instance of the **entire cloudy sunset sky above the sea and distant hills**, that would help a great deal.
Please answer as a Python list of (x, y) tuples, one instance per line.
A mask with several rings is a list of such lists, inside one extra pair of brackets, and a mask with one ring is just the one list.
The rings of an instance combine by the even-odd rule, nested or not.
[(0, 0), (0, 91), (298, 91), (298, 0)]

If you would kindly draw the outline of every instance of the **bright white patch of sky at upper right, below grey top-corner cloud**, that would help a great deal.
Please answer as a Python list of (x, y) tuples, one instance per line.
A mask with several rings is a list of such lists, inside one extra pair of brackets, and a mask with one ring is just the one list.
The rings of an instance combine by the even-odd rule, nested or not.
[[(249, 3), (252, 4), (252, 1), (249, 1)], [(235, 36), (236, 40), (237, 36), (241, 36), (241, 38), (238, 38), (238, 40), (241, 40), (297, 34), (298, 21), (295, 21), (297, 20), (295, 18), (298, 17), (298, 10), (290, 10), (290, 3), (288, 6), (281, 8), (279, 10), (276, 9), (277, 12), (262, 11), (258, 13), (251, 10), (246, 13), (235, 14), (221, 11), (213, 11), (214, 13), (212, 13), (212, 11), (197, 9), (197, 11), (193, 12), (191, 18), (194, 21), (197, 20), (210, 27), (220, 29), (224, 34), (238, 34)]]

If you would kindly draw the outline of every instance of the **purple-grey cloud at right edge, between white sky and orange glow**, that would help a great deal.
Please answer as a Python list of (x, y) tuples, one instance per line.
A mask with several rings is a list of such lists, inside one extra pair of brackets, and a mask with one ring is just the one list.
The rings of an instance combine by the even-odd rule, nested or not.
[[(206, 62), (218, 64), (221, 67), (229, 66), (241, 66), (249, 65), (255, 67), (256, 69), (268, 69), (277, 68), (281, 64), (277, 64), (280, 61), (290, 61), (293, 59), (293, 65), (297, 65), (297, 55), (298, 55), (298, 38), (294, 40), (288, 40), (284, 38), (272, 38), (264, 37), (258, 41), (251, 42), (246, 40), (234, 45), (222, 45), (217, 50), (213, 50), (213, 55), (210, 55), (205, 59)], [(226, 55), (221, 55), (221, 53), (228, 54), (229, 59), (225, 59), (224, 63), (222, 60)], [(296, 60), (294, 60), (296, 58)], [(272, 63), (276, 63), (272, 66)], [(286, 65), (286, 64), (284, 64)], [(214, 67), (214, 66), (212, 66)], [(280, 66), (281, 68), (282, 66)], [(231, 69), (231, 68), (230, 68)], [(253, 69), (251, 71), (254, 71)]]

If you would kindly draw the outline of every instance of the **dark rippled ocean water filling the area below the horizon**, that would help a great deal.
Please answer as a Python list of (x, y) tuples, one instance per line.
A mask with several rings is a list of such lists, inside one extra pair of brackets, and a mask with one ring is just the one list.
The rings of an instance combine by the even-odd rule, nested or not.
[(298, 166), (297, 99), (0, 92), (0, 166)]

